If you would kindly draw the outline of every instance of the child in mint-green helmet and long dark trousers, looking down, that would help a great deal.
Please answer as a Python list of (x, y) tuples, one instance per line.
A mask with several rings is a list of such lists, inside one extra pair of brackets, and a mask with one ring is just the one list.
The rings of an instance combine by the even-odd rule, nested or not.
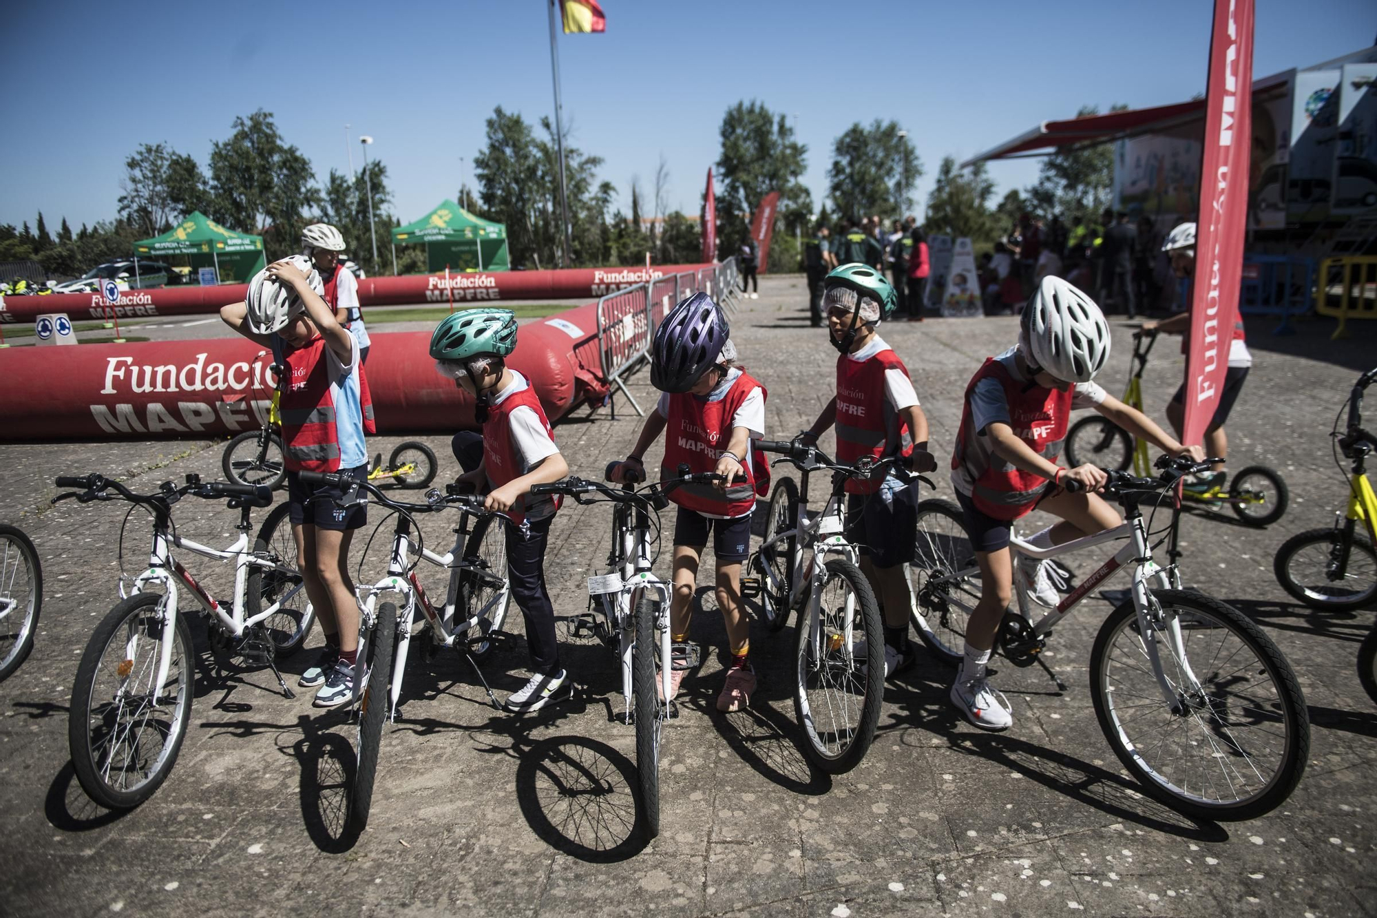
[(545, 547), (559, 502), (530, 496), (532, 485), (559, 481), (569, 474), (569, 466), (555, 445), (536, 390), (507, 367), (505, 358), (514, 350), (516, 313), (486, 307), (446, 316), (431, 335), (430, 346), (439, 374), (474, 397), (474, 419), (483, 426), (481, 438), (476, 434), (454, 438), (454, 455), (465, 473), (460, 481), (487, 492), (485, 509), (527, 524), (525, 533), (507, 527), (508, 582), (526, 622), (532, 673), (526, 685), (507, 699), (507, 710), (523, 713), (569, 695), (560, 691), (567, 674), (559, 663), (555, 608), (545, 589)]

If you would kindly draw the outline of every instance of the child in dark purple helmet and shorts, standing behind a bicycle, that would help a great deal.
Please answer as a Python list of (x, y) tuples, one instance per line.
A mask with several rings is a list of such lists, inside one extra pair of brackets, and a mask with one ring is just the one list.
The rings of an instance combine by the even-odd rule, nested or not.
[[(675, 520), (673, 583), (669, 634), (673, 657), (683, 669), (669, 674), (669, 693), (679, 692), (684, 671), (697, 653), (688, 645), (688, 618), (698, 558), (713, 535), (717, 555), (717, 608), (727, 626), (731, 664), (717, 695), (719, 711), (739, 711), (750, 704), (756, 674), (750, 652), (750, 622), (741, 608), (741, 562), (750, 549), (750, 514), (756, 506), (756, 467), (750, 440), (764, 436), (766, 390), (737, 367), (737, 349), (722, 309), (706, 294), (694, 294), (675, 306), (655, 329), (650, 382), (661, 393), (660, 405), (646, 418), (636, 447), (616, 470), (644, 478), (642, 456), (668, 429), (662, 480), (679, 477), (679, 465), (693, 473), (716, 471), (717, 485), (680, 485), (669, 492), (679, 504)], [(745, 482), (735, 482), (745, 476)], [(658, 684), (658, 681), (657, 681)]]

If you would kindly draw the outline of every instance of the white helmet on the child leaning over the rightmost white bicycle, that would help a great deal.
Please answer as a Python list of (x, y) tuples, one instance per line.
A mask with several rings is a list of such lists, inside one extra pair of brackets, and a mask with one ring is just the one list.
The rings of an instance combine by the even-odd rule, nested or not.
[(1110, 327), (1093, 299), (1048, 276), (1023, 307), (1019, 346), (1058, 379), (1091, 382), (1110, 357)]

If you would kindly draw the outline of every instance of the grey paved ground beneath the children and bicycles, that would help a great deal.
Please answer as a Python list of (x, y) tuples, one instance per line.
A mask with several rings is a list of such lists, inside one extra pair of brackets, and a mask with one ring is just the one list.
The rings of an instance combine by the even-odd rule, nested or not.
[[(826, 400), (834, 360), (822, 332), (807, 327), (801, 283), (764, 280), (734, 328), (744, 363), (770, 389), (768, 433), (795, 433)], [(945, 455), (967, 379), (1013, 339), (1013, 321), (884, 331)], [(1305, 779), (1267, 817), (1195, 823), (1142, 797), (1120, 771), (1096, 725), (1084, 663), (1104, 604), (1053, 638), (1048, 662), (1067, 692), (1037, 667), (1000, 667), (996, 682), (1016, 715), (1008, 733), (960, 722), (946, 702), (950, 670), (923, 657), (890, 686), (863, 765), (834, 779), (810, 771), (795, 746), (782, 666), (790, 633), (753, 634), (763, 682), (741, 714), (713, 710), (722, 663), (705, 653), (665, 737), (664, 833), (650, 845), (633, 831), (633, 742), (609, 722), (620, 696), (599, 648), (566, 644), (567, 664), (588, 685), (584, 700), (525, 720), (485, 707), (456, 659), (416, 660), (386, 735), (372, 823), (357, 839), (340, 826), (350, 768), (343, 718), (317, 715), (304, 696), (275, 695), (266, 671), (219, 671), (207, 652), (176, 769), (143, 808), (116, 816), (73, 779), (66, 706), (87, 631), (112, 605), (123, 513), (73, 503), (36, 513), (43, 482), (88, 470), (129, 474), (136, 488), (187, 471), (215, 476), (220, 444), (4, 445), (0, 516), (18, 518), (37, 542), (47, 604), (33, 656), (0, 685), (0, 912), (1371, 914), (1377, 707), (1354, 659), (1373, 615), (1316, 615), (1289, 602), (1271, 555), (1292, 532), (1323, 525), (1343, 496), (1326, 434), (1358, 367), (1373, 360), (1373, 332), (1359, 328), (1366, 339), (1336, 346), (1327, 323), (1301, 323), (1289, 339), (1268, 331), (1249, 323), (1257, 368), (1230, 423), (1234, 465), (1281, 469), (1292, 510), (1265, 531), (1184, 522), (1187, 579), (1267, 627), (1310, 704)], [(1126, 375), (1126, 338), (1117, 343), (1111, 389)], [(1154, 361), (1144, 385), (1159, 412), (1180, 357), (1162, 347)], [(632, 390), (649, 402), (649, 374)], [(617, 420), (606, 411), (571, 419), (558, 437), (570, 466), (589, 474), (620, 456), (635, 430), (635, 416), (618, 409)], [(379, 438), (376, 448), (395, 440)], [(438, 451), (448, 441), (427, 440)], [(453, 471), (446, 459), (443, 473)], [(939, 493), (950, 496), (940, 477)], [(193, 539), (233, 536), (231, 514), (215, 504), (179, 504), (176, 518)], [(605, 555), (606, 527), (605, 507), (560, 514), (549, 555), (558, 613), (584, 608), (584, 578)], [(434, 524), (425, 533), (446, 535)], [(135, 554), (145, 538), (134, 533)], [(227, 589), (226, 569), (190, 567), (208, 573), (212, 591)], [(722, 623), (711, 595), (706, 602), (693, 635), (719, 648)], [(519, 684), (523, 653), (518, 641), (486, 664), (500, 692)], [(299, 673), (304, 656), (284, 669)]]

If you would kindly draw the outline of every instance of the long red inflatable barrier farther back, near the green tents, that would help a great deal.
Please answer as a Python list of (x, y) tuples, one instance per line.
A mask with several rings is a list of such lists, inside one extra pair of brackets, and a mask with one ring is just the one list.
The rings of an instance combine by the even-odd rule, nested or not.
[[(501, 299), (588, 299), (666, 274), (695, 272), (708, 265), (655, 265), (644, 267), (576, 267), (554, 272), (494, 272), (368, 277), (358, 283), (364, 306), (402, 303), (456, 303)], [(120, 318), (149, 316), (204, 316), (226, 303), (244, 299), (246, 284), (220, 287), (162, 287), (131, 289), (120, 295)], [(32, 323), (44, 313), (66, 313), (73, 320), (103, 318), (101, 294), (52, 294), (50, 296), (0, 298), (0, 323)]]

